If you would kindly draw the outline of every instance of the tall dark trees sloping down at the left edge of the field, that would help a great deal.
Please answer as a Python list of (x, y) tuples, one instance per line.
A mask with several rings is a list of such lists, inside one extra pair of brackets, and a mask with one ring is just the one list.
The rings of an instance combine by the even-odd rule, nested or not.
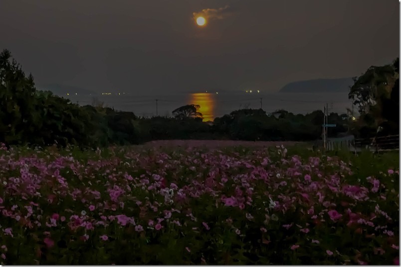
[(80, 107), (36, 90), (9, 51), (0, 54), (0, 142), (80, 148), (137, 144), (136, 116), (101, 106)]

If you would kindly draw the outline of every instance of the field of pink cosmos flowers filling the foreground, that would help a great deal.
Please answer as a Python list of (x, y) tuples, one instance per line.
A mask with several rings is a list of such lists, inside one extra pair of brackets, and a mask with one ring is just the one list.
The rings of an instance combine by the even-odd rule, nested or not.
[(0, 148), (1, 264), (399, 264), (399, 159)]

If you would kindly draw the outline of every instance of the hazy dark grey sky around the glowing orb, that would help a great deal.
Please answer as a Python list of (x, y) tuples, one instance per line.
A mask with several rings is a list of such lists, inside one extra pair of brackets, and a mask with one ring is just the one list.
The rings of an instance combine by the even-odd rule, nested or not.
[(38, 85), (276, 91), (390, 63), (399, 20), (396, 0), (0, 0), (0, 48)]

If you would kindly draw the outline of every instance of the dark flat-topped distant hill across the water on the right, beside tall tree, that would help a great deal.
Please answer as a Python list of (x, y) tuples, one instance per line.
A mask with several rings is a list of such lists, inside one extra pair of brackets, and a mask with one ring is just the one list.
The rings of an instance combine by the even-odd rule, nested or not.
[(289, 83), (280, 92), (348, 92), (352, 85), (352, 78), (316, 79)]

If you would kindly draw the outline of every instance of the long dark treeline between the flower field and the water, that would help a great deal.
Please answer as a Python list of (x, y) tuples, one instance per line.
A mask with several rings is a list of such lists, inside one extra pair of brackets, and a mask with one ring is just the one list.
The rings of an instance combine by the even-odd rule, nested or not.
[[(173, 117), (153, 118), (139, 118), (133, 112), (116, 111), (101, 104), (78, 106), (50, 91), (36, 90), (33, 77), (24, 74), (7, 50), (0, 54), (0, 79), (0, 142), (7, 145), (71, 144), (89, 148), (161, 139), (311, 141), (322, 135), (324, 115), (320, 110), (302, 115), (284, 110), (266, 114), (262, 109), (241, 109), (208, 124), (202, 122), (196, 105), (177, 108)], [(329, 114), (328, 122), (337, 125), (329, 129), (329, 136), (374, 133), (377, 119), (373, 116), (368, 120), (369, 112), (365, 113), (356, 121), (350, 114)], [(382, 119), (380, 123), (389, 124), (389, 120)], [(394, 132), (395, 126), (386, 129)]]

